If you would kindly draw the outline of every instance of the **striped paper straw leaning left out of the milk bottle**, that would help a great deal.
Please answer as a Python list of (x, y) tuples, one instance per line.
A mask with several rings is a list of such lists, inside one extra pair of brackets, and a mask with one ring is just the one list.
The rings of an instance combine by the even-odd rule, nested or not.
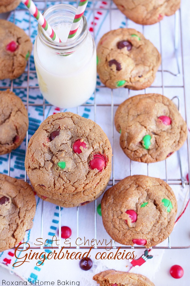
[(46, 31), (46, 33), (52, 39), (52, 41), (61, 43), (60, 38), (56, 35), (50, 24), (48, 24), (48, 22), (46, 21), (42, 13), (38, 10), (34, 2), (32, 0), (21, 0), (21, 1), (23, 2), (24, 5), (26, 5), (30, 13), (36, 18), (40, 26), (42, 26), (42, 28)]

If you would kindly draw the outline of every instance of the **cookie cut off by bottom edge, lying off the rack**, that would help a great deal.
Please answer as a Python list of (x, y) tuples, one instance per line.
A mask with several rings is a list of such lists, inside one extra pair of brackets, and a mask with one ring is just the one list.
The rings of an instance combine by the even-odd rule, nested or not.
[(154, 284), (141, 274), (105, 270), (93, 276), (100, 286), (154, 286)]

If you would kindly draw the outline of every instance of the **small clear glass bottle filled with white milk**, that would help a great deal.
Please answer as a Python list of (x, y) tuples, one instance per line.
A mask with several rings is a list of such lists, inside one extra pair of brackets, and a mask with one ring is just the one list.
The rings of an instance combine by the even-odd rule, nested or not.
[(48, 8), (43, 15), (62, 43), (52, 41), (40, 25), (34, 43), (40, 91), (48, 102), (60, 108), (83, 104), (96, 86), (96, 48), (84, 16), (76, 37), (66, 42), (76, 10), (67, 4)]

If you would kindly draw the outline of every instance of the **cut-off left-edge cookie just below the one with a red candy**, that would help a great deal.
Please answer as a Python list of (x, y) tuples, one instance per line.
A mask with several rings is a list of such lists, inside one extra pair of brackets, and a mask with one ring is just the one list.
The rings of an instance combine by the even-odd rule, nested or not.
[(28, 113), (22, 100), (10, 90), (0, 91), (0, 155), (16, 149), (28, 130)]

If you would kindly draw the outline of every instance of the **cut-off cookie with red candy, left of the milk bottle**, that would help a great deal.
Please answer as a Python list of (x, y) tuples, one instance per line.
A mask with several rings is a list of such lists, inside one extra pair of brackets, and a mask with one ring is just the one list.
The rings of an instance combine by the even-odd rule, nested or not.
[(22, 29), (2, 19), (0, 37), (0, 80), (13, 80), (23, 74), (32, 51), (32, 43)]

